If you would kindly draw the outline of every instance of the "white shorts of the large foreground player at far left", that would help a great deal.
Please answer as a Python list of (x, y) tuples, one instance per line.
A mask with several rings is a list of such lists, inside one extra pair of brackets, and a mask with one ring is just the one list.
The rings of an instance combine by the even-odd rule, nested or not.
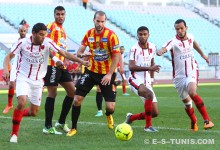
[(29, 101), (37, 106), (41, 104), (43, 80), (30, 80), (25, 77), (16, 80), (16, 96), (26, 95)]

